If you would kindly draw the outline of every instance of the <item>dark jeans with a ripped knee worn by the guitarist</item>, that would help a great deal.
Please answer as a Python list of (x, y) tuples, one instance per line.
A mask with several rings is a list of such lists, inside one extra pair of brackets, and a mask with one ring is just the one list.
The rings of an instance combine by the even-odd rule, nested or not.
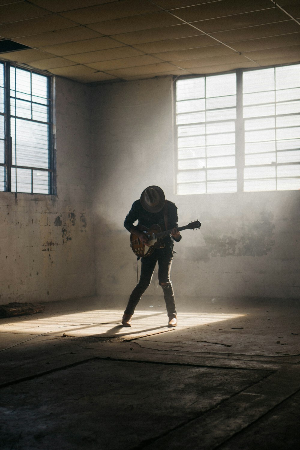
[(158, 281), (163, 289), (168, 316), (172, 317), (173, 315), (176, 315), (174, 292), (170, 280), (172, 260), (173, 252), (167, 247), (156, 248), (152, 255), (141, 259), (141, 276), (139, 283), (135, 286), (129, 297), (128, 305), (124, 311), (125, 314), (133, 315), (135, 307), (151, 282), (154, 268), (158, 262)]

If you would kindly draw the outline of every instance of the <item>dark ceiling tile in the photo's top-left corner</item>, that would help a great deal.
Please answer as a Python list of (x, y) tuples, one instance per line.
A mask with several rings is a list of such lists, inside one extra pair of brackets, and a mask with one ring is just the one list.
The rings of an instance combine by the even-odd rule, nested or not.
[(0, 24), (17, 22), (50, 14), (46, 9), (39, 8), (25, 1), (0, 6)]

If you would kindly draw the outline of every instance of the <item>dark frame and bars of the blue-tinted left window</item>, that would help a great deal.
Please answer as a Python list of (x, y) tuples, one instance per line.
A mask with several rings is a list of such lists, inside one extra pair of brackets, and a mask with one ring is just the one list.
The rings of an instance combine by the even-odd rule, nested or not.
[[(0, 63), (4, 66), (4, 113), (1, 115), (4, 116), (4, 164), (1, 164), (4, 167), (4, 190), (0, 192), (13, 192), (13, 193), (22, 193), (22, 194), (30, 194), (30, 195), (56, 195), (56, 151), (54, 145), (54, 77), (45, 73), (43, 71), (39, 71), (38, 69), (33, 69), (31, 67), (24, 67), (22, 64), (15, 64), (9, 61), (0, 59)], [(11, 114), (11, 95), (10, 95), (10, 68), (14, 67), (15, 69), (21, 69), (32, 74), (38, 74), (45, 76), (48, 79), (48, 121), (40, 122), (38, 120), (29, 119), (31, 122), (35, 123), (43, 123), (48, 127), (48, 168), (45, 167), (36, 167), (36, 166), (21, 166), (13, 164), (13, 143), (12, 143), (12, 135), (11, 135), (11, 119), (15, 116)], [(32, 100), (31, 100), (32, 101)], [(16, 117), (17, 118), (17, 117)], [(21, 117), (23, 120), (24, 118)], [(26, 119), (25, 119), (26, 120)], [(12, 189), (12, 171), (15, 169), (26, 169), (31, 170), (31, 192), (24, 192), (22, 190)], [(33, 190), (33, 171), (45, 171), (49, 173), (49, 184), (48, 184), (48, 192), (34, 192)]]

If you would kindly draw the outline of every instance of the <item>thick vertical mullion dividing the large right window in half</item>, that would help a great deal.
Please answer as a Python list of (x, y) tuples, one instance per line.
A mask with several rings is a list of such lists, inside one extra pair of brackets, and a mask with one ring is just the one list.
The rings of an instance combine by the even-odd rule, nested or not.
[(237, 69), (237, 120), (236, 120), (235, 157), (237, 166), (237, 192), (244, 190), (245, 166), (245, 126), (243, 118), (243, 80), (242, 69)]

